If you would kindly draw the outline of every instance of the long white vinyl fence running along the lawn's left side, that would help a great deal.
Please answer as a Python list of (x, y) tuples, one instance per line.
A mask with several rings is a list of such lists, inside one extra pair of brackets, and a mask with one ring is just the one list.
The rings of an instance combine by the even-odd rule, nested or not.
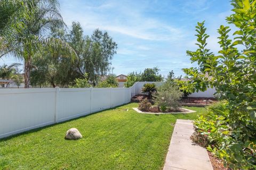
[(130, 88), (0, 89), (0, 138), (129, 103)]

